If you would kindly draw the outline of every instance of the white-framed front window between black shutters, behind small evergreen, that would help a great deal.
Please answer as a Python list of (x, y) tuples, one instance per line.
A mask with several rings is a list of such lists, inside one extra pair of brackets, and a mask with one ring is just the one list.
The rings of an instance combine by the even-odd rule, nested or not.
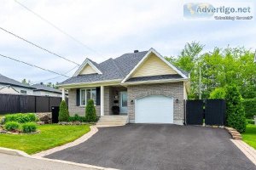
[(80, 89), (80, 105), (86, 105), (89, 99), (93, 99), (96, 104), (96, 88)]

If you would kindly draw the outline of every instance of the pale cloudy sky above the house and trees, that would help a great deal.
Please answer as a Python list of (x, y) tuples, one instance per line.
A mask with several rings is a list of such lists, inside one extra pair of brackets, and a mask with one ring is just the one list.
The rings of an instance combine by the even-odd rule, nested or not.
[[(206, 52), (228, 45), (252, 51), (256, 48), (256, 20), (184, 20), (183, 1), (16, 1), (84, 45), (40, 20), (14, 0), (0, 0), (0, 27), (79, 64), (85, 58), (101, 63), (108, 58), (132, 53), (135, 49), (144, 51), (154, 48), (163, 56), (177, 56), (186, 42), (193, 41), (204, 44)], [(61, 74), (76, 66), (2, 30), (0, 54)], [(72, 77), (74, 71), (76, 68), (68, 72), (67, 76)], [(32, 83), (55, 83), (67, 79), (2, 57), (0, 74), (17, 81), (26, 78)]]

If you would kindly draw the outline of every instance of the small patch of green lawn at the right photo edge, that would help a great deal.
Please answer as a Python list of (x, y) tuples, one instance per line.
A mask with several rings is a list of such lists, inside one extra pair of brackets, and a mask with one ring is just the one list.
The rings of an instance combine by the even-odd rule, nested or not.
[(256, 149), (256, 125), (247, 124), (247, 130), (241, 136), (243, 141)]

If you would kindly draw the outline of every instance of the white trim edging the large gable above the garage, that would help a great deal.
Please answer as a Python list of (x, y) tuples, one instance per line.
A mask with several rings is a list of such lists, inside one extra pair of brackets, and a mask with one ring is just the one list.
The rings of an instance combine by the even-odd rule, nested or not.
[(148, 50), (148, 53), (145, 54), (145, 56), (143, 57), (143, 59), (140, 60), (140, 62), (131, 70), (131, 72), (125, 77), (125, 79), (122, 81), (125, 82), (128, 78), (131, 77), (131, 74), (137, 70), (137, 68), (143, 64), (143, 62), (148, 58), (149, 54), (154, 53), (157, 57), (159, 57), (162, 61), (164, 61), (166, 63), (166, 65), (169, 65), (174, 71), (177, 72), (177, 74), (179, 74), (181, 77), (183, 78), (188, 78), (186, 77), (181, 71), (179, 71), (174, 65), (172, 65), (172, 63), (170, 63), (169, 61), (167, 61), (161, 54), (159, 54), (154, 48), (150, 48)]

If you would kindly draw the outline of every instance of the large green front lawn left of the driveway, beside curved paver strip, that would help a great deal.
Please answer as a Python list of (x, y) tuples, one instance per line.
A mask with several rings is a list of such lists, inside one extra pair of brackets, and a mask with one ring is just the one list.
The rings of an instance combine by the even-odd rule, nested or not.
[(62, 144), (67, 144), (90, 131), (90, 125), (61, 126), (57, 124), (38, 126), (38, 134), (0, 134), (0, 147), (23, 150), (34, 154)]

